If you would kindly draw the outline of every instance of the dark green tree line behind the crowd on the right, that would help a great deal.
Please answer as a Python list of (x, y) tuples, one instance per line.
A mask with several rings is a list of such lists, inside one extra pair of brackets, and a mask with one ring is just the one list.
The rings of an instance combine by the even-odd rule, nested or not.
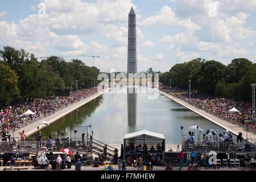
[(170, 80), (172, 87), (188, 89), (191, 80), (191, 90), (237, 101), (251, 101), (251, 84), (256, 84), (256, 63), (238, 58), (226, 66), (199, 57), (175, 64), (159, 77), (159, 82), (164, 85), (170, 85)]

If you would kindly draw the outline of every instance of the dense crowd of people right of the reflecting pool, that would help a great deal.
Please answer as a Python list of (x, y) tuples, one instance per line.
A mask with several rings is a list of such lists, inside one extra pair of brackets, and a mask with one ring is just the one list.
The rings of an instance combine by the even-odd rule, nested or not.
[[(173, 96), (189, 102), (189, 104), (196, 105), (202, 109), (206, 109), (209, 113), (218, 114), (223, 118), (238, 121), (252, 129), (256, 129), (256, 123), (253, 121), (255, 115), (249, 102), (209, 96), (200, 93), (199, 90), (191, 92), (191, 97), (189, 98), (188, 90), (179, 88), (171, 88), (170, 90), (170, 86), (159, 86), (159, 90), (171, 93)], [(233, 107), (235, 107), (239, 112), (229, 112), (229, 110)]]

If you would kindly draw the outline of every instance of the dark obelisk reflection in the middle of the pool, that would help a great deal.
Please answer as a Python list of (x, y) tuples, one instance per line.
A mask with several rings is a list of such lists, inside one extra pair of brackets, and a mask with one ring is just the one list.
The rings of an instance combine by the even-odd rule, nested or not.
[(135, 88), (127, 87), (127, 110), (128, 110), (128, 126), (136, 125), (137, 115), (137, 93)]

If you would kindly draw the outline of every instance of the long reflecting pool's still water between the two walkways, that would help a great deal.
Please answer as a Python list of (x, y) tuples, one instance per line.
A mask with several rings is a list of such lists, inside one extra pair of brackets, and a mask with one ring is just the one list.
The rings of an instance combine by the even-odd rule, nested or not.
[[(121, 90), (126, 93), (111, 93)], [(108, 144), (122, 143), (125, 134), (140, 130), (162, 133), (167, 144), (174, 144), (181, 141), (180, 126), (184, 127), (183, 135), (192, 131), (189, 129), (192, 125), (204, 130), (201, 137), (208, 129), (218, 130), (218, 133), (225, 131), (160, 93), (158, 99), (148, 100), (146, 90), (133, 88), (134, 93), (127, 94), (127, 88), (114, 89), (45, 127), (42, 134), (74, 137), (77, 130), (76, 137), (81, 137), (82, 133), (86, 136), (85, 126), (92, 125), (93, 137)], [(196, 132), (196, 138), (198, 134)]]

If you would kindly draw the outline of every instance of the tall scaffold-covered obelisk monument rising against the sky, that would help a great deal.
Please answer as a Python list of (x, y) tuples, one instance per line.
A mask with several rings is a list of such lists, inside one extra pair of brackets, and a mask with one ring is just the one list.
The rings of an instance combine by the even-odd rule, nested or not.
[(127, 76), (129, 73), (137, 73), (137, 47), (136, 47), (136, 15), (131, 7), (128, 23), (128, 60)]

